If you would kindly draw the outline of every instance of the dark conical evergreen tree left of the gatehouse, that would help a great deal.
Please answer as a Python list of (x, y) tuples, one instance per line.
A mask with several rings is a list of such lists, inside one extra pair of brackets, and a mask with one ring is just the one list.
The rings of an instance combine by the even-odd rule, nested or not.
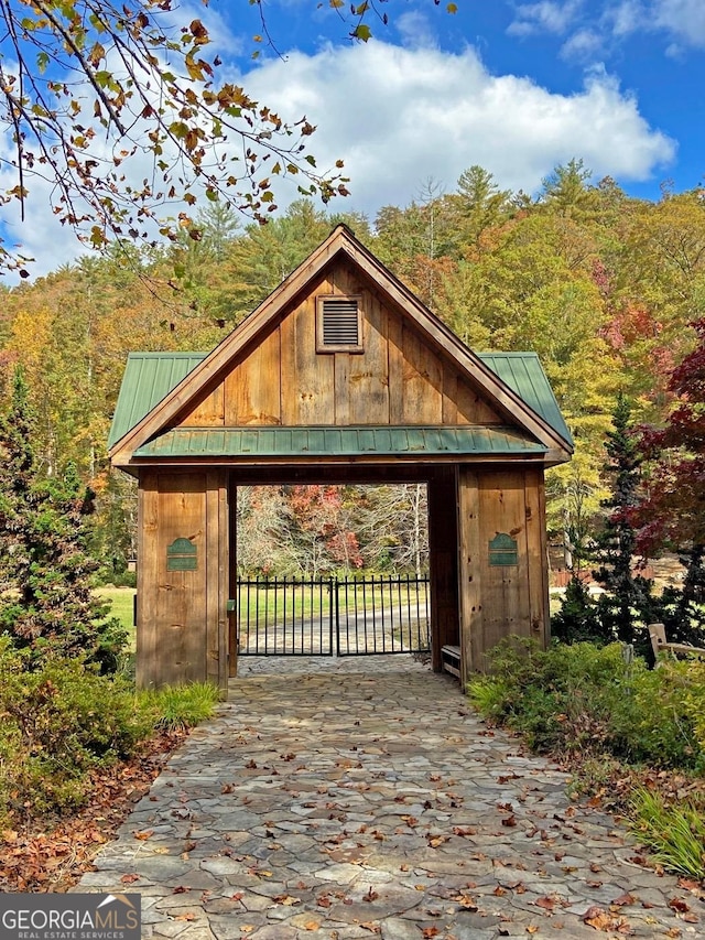
[(36, 660), (85, 656), (115, 670), (126, 635), (91, 590), (86, 550), (93, 493), (74, 465), (44, 479), (32, 449), (33, 412), (22, 371), (0, 415), (0, 631)]

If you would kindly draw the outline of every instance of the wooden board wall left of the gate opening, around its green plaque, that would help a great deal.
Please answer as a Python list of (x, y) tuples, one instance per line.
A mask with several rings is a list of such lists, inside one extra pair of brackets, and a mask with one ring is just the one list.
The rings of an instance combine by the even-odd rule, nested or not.
[[(206, 680), (227, 688), (226, 484), (225, 471), (143, 475), (137, 618), (140, 688)], [(195, 571), (167, 570), (167, 548), (178, 538), (195, 545)]]

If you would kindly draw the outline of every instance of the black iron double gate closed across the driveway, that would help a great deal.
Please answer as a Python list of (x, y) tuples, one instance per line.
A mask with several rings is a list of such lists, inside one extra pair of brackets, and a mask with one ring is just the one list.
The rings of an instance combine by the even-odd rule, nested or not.
[(240, 656), (373, 656), (431, 648), (427, 577), (238, 580)]

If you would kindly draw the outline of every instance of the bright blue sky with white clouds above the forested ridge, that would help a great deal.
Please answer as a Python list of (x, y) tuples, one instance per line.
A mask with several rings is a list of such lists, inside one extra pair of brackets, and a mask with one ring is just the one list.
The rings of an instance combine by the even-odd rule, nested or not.
[[(257, 6), (181, 0), (174, 17), (206, 22), (221, 78), (285, 120), (317, 126), (318, 166), (343, 159), (350, 176), (351, 195), (330, 207), (372, 223), (381, 206), (452, 192), (473, 164), (532, 195), (573, 158), (593, 182), (610, 175), (654, 201), (664, 182), (683, 192), (704, 180), (705, 0), (456, 2), (451, 14), (447, 0), (378, 0), (389, 24), (370, 12), (372, 40), (355, 43), (329, 0), (262, 0), (281, 56), (263, 44), (257, 61)], [(11, 151), (0, 136), (0, 155)], [(135, 161), (133, 172), (150, 171)], [(0, 188), (15, 182), (6, 166)], [(0, 217), (0, 233), (36, 259), (34, 273), (79, 251), (48, 192), (36, 188), (24, 222), (12, 205)], [(279, 205), (295, 197), (284, 181)]]

